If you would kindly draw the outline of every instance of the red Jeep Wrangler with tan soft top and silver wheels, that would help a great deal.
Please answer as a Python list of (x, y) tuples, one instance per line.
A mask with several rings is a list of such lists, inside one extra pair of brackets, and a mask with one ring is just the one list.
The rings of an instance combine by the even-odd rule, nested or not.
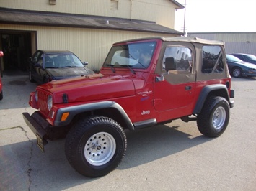
[(120, 164), (131, 131), (174, 119), (197, 121), (220, 136), (234, 106), (224, 43), (195, 37), (151, 37), (115, 43), (100, 73), (40, 85), (30, 94), (38, 109), (23, 117), (44, 151), (66, 137), (74, 169), (100, 177)]

